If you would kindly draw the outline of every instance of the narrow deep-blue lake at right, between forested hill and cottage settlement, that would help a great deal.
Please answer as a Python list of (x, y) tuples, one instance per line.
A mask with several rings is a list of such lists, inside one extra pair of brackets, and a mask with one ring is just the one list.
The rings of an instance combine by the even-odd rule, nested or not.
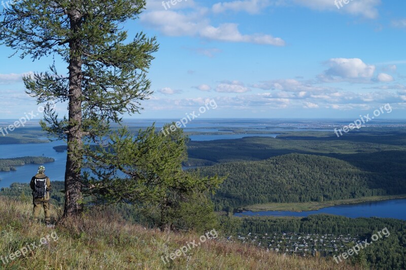
[(389, 217), (406, 220), (406, 199), (393, 199), (379, 202), (336, 205), (314, 211), (244, 211), (235, 216), (295, 216), (307, 217), (314, 214), (332, 214), (351, 218), (356, 217)]

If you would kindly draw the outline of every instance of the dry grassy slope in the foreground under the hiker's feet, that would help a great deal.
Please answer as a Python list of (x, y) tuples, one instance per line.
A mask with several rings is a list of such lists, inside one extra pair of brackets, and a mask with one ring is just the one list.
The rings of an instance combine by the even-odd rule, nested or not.
[[(55, 214), (58, 211), (53, 211)], [(53, 231), (57, 241), (20, 257), (4, 269), (357, 269), (346, 262), (336, 264), (324, 258), (277, 255), (247, 244), (226, 242), (220, 237), (191, 250), (171, 264), (160, 259), (186, 242), (193, 233), (162, 233), (125, 223), (111, 213), (95, 211), (83, 220), (65, 220), (55, 229), (27, 222), (31, 205), (0, 197), (0, 255), (37, 243)], [(53, 218), (57, 218), (53, 216)], [(51, 239), (52, 240), (52, 239)]]

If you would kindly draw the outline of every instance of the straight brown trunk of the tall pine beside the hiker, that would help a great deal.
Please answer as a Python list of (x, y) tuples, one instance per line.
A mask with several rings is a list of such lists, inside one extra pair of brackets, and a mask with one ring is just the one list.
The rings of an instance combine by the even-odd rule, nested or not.
[[(76, 1), (73, 1), (75, 6)], [(78, 32), (82, 15), (73, 8), (69, 12), (71, 29)], [(67, 130), (67, 159), (65, 170), (65, 208), (63, 216), (76, 215), (82, 206), (82, 50), (81, 41), (71, 40), (69, 59), (69, 127)]]

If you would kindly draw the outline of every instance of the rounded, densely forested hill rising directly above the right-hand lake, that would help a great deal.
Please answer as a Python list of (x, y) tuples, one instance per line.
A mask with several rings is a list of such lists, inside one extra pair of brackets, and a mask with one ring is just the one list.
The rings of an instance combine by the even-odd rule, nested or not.
[(406, 193), (406, 182), (401, 177), (404, 172), (392, 170), (397, 177), (383, 176), (373, 167), (368, 171), (366, 166), (325, 156), (291, 153), (199, 170), (202, 175), (228, 175), (214, 196), (217, 210), (269, 202), (323, 202)]

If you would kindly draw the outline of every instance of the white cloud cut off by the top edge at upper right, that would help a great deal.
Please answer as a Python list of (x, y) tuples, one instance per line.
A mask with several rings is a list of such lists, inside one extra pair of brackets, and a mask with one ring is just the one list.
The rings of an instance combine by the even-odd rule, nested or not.
[[(339, 4), (341, 1), (337, 0), (293, 0), (293, 3), (308, 7), (313, 10), (319, 11), (337, 11), (348, 13), (351, 15), (360, 15), (368, 19), (375, 19), (379, 16), (377, 7), (381, 4), (381, 0), (351, 0), (348, 4), (343, 4), (343, 7)], [(339, 8), (337, 8), (337, 6)]]

